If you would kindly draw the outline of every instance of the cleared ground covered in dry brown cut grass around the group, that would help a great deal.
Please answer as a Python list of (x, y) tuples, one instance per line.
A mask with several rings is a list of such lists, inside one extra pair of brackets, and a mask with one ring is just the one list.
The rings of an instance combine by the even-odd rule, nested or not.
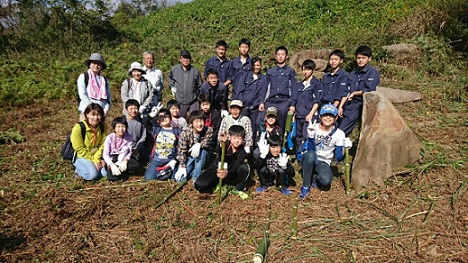
[(157, 209), (175, 183), (73, 179), (59, 152), (78, 118), (75, 106), (55, 101), (0, 113), (0, 130), (25, 137), (0, 145), (0, 262), (251, 262), (269, 202), (268, 262), (468, 262), (466, 101), (456, 110), (430, 100), (398, 105), (425, 142), (421, 164), (349, 197), (339, 177), (328, 192), (314, 189), (299, 201), (296, 236), (299, 174), (291, 196), (251, 187), (250, 199), (230, 195), (216, 205), (215, 195), (189, 182)]

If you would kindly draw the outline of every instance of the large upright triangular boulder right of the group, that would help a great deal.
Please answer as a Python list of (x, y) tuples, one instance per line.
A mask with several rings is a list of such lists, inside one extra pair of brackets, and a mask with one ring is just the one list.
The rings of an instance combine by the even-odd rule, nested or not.
[(352, 163), (353, 187), (377, 184), (417, 162), (422, 145), (392, 103), (379, 92), (364, 94), (362, 128)]

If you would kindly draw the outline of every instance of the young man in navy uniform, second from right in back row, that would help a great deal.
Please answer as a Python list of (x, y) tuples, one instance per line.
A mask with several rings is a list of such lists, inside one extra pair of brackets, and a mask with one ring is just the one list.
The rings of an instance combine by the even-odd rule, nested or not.
[(344, 53), (336, 49), (328, 56), (330, 72), (322, 77), (323, 96), (322, 103), (333, 103), (339, 109), (343, 107), (348, 96), (348, 73), (341, 68)]

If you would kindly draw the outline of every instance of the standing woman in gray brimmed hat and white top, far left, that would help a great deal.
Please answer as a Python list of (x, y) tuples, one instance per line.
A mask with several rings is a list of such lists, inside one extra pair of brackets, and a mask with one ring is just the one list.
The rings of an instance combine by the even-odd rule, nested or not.
[(76, 81), (78, 86), (80, 121), (85, 119), (84, 111), (91, 103), (96, 103), (104, 110), (105, 117), (111, 104), (111, 92), (109, 81), (102, 75), (102, 70), (107, 65), (104, 57), (99, 53), (93, 53), (85, 61), (88, 70), (81, 73)]

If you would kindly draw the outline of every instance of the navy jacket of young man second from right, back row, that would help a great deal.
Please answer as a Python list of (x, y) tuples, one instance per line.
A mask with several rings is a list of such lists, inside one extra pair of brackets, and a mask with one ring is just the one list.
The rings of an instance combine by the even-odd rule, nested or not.
[(322, 103), (334, 103), (348, 96), (349, 74), (343, 69), (338, 69), (335, 74), (327, 72), (322, 78), (323, 97)]

